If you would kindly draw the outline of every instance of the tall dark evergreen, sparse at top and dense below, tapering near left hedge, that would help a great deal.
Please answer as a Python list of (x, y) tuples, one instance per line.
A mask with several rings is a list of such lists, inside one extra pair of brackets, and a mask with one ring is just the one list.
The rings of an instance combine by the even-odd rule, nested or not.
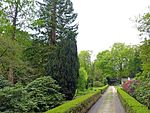
[[(52, 76), (61, 86), (66, 99), (72, 99), (79, 71), (76, 35), (78, 25), (75, 24), (77, 14), (74, 13), (70, 0), (44, 0), (37, 2), (40, 6), (38, 19), (33, 23), (38, 40), (42, 40), (49, 49), (44, 56), (47, 61), (46, 75)], [(45, 62), (44, 61), (44, 62)]]

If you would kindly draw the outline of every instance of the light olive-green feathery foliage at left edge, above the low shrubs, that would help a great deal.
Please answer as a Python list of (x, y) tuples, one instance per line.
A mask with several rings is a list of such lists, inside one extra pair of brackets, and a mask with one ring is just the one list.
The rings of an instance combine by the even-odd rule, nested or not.
[(23, 58), (23, 51), (30, 43), (30, 40), (25, 40), (21, 42), (17, 38), (17, 41), (12, 41), (10, 38), (0, 37), (0, 74), (7, 78), (8, 69), (11, 67), (14, 83), (26, 84), (33, 80), (31, 79), (31, 75), (34, 75), (33, 69)]

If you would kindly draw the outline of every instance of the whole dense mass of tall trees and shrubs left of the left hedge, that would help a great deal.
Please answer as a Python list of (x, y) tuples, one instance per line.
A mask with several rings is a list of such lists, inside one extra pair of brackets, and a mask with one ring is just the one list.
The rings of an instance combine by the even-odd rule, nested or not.
[(72, 99), (79, 76), (72, 2), (0, 1), (0, 111), (44, 112)]

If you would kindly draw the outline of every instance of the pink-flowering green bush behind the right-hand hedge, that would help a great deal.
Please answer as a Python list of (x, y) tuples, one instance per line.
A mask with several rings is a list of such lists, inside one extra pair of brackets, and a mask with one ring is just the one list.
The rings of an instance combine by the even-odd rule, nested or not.
[(123, 89), (150, 109), (150, 78), (127, 81)]

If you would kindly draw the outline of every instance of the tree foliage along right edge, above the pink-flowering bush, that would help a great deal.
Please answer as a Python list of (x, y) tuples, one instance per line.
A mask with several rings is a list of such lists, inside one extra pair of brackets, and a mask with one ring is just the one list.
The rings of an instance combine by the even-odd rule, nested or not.
[(144, 38), (142, 45), (140, 46), (140, 58), (142, 61), (143, 74), (145, 78), (150, 77), (150, 12), (144, 13), (137, 20), (137, 29), (140, 32), (140, 36)]

